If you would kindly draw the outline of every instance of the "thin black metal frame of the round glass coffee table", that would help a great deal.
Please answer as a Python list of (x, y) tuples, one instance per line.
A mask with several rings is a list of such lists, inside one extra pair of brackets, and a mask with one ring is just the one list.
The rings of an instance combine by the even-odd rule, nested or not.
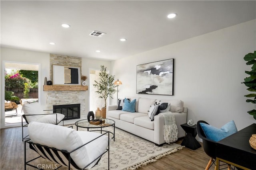
[[(106, 125), (106, 124), (103, 124), (103, 125), (102, 125), (102, 124), (99, 124), (99, 125), (95, 125), (95, 127), (86, 127), (86, 126), (78, 125), (78, 123), (81, 122), (81, 121), (88, 121), (88, 119), (82, 119), (82, 120), (79, 120), (79, 121), (76, 121), (76, 122), (75, 122), (76, 130), (78, 131), (78, 127), (86, 128), (87, 131), (89, 131), (89, 129), (100, 128), (100, 130), (90, 130), (90, 132), (91, 132), (91, 131), (100, 131), (100, 133), (102, 134), (102, 132), (108, 132), (108, 131), (102, 130), (102, 128), (113, 126), (114, 131), (113, 131), (113, 132), (109, 132), (109, 133), (111, 133), (111, 134), (113, 135), (113, 137), (112, 137), (111, 139), (114, 139), (114, 141), (115, 141), (115, 124), (116, 124), (116, 122), (115, 122), (114, 120), (112, 120), (112, 119), (105, 119), (105, 121), (107, 121), (107, 120), (111, 120), (111, 121), (113, 121), (114, 123), (109, 124), (109, 125)], [(89, 122), (88, 122), (88, 123), (89, 123)]]

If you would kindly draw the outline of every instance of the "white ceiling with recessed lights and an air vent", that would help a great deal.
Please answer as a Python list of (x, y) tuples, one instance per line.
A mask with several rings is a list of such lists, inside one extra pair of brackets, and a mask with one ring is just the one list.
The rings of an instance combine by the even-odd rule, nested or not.
[[(243, 0), (0, 3), (1, 47), (108, 61), (256, 18), (256, 2)], [(172, 12), (178, 16), (168, 19)], [(61, 23), (71, 27), (63, 28)], [(93, 30), (107, 34), (92, 37), (89, 34)]]

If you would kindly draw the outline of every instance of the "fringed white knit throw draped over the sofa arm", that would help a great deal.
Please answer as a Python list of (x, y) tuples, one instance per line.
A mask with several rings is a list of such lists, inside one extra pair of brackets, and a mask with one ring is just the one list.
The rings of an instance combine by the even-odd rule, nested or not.
[(178, 128), (172, 112), (159, 113), (164, 116), (164, 140), (170, 144), (178, 140)]

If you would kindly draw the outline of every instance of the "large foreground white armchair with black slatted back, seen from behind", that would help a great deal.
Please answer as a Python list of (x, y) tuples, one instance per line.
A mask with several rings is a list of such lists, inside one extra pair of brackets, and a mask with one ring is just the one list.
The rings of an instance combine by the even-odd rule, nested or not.
[[(58, 168), (66, 166), (72, 169), (90, 169), (108, 152), (109, 169), (109, 131), (100, 134), (90, 131), (56, 126), (49, 123), (30, 122), (28, 125), (30, 140), (24, 142), (25, 169), (26, 166), (37, 167), (33, 162), (44, 158), (58, 164)], [(26, 144), (40, 156), (26, 160)], [(37, 161), (38, 163), (38, 161)], [(55, 167), (57, 169), (57, 167)]]

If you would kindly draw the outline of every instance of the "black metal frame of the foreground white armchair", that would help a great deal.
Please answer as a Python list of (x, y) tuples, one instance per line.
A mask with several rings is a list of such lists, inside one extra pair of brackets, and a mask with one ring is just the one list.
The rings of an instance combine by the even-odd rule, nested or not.
[[(106, 149), (102, 154), (100, 154), (100, 156), (98, 156), (98, 157), (97, 157), (96, 159), (94, 159), (92, 162), (90, 162), (89, 164), (87, 164), (86, 166), (84, 166), (82, 169), (79, 168), (79, 167), (75, 164), (74, 160), (72, 160), (70, 154), (71, 154), (72, 152), (74, 152), (74, 151), (80, 149), (81, 147), (84, 147), (84, 146), (87, 145), (88, 143), (91, 143), (91, 142), (93, 142), (94, 140), (96, 140), (96, 139), (102, 137), (103, 135), (108, 135), (108, 147), (107, 147), (107, 149)], [(37, 150), (35, 149), (35, 147), (34, 147), (34, 146), (36, 146), (36, 147), (39, 147), (39, 148), (44, 148), (44, 149), (46, 149), (46, 150), (52, 150), (54, 153), (57, 152), (57, 151), (61, 152), (61, 153), (65, 156), (65, 158), (68, 160), (68, 170), (70, 170), (71, 165), (74, 166), (74, 168), (76, 168), (76, 169), (84, 170), (86, 167), (88, 167), (90, 164), (92, 164), (94, 161), (96, 161), (97, 159), (101, 158), (102, 155), (104, 155), (106, 152), (108, 152), (108, 170), (109, 170), (109, 154), (110, 154), (110, 153), (109, 153), (109, 139), (110, 139), (109, 137), (110, 137), (109, 131), (107, 131), (106, 133), (103, 133), (102, 135), (96, 137), (95, 139), (92, 139), (91, 141), (89, 141), (89, 142), (87, 142), (87, 143), (81, 145), (80, 147), (78, 147), (78, 148), (76, 148), (76, 149), (74, 149), (74, 150), (72, 150), (72, 151), (70, 151), (70, 152), (68, 152), (68, 151), (66, 151), (66, 150), (60, 150), (60, 149), (48, 147), (48, 146), (45, 146), (45, 145), (40, 145), (40, 144), (37, 144), (37, 143), (33, 143), (33, 142), (30, 141), (30, 139), (29, 139), (29, 140), (27, 140), (27, 141), (24, 142), (24, 169), (26, 170), (26, 166), (28, 165), (28, 166), (32, 166), (32, 167), (34, 167), (34, 168), (36, 168), (36, 169), (41, 169), (41, 170), (43, 170), (42, 168), (38, 168), (37, 166), (34, 166), (34, 165), (30, 164), (30, 162), (32, 162), (33, 160), (36, 160), (36, 159), (38, 159), (38, 158), (41, 158), (41, 157), (44, 158), (44, 159), (50, 160), (46, 155), (44, 155), (44, 156), (40, 155), (40, 154), (38, 153), (38, 151), (37, 151)], [(38, 156), (38, 157), (36, 157), (36, 158), (33, 158), (33, 159), (27, 161), (27, 160), (26, 160), (26, 144), (27, 144), (27, 143), (29, 144), (30, 149), (36, 151), (40, 156)], [(50, 160), (50, 161), (52, 162), (52, 160)], [(97, 161), (97, 163), (96, 163), (95, 165), (97, 165), (99, 161), (100, 161), (100, 159)], [(54, 163), (58, 164), (58, 162), (54, 162)], [(55, 168), (54, 170), (56, 170), (56, 169), (62, 167), (62, 165), (60, 165), (60, 164), (58, 164), (58, 165), (59, 165), (59, 166), (58, 166), (57, 168)], [(94, 166), (95, 166), (95, 165), (94, 165)]]

